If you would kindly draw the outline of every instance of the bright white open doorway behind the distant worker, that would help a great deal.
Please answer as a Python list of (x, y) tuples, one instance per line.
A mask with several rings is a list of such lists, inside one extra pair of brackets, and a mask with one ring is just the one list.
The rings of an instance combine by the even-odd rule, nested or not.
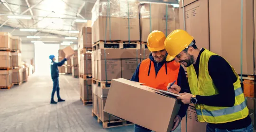
[(35, 43), (35, 70), (40, 75), (51, 75), (50, 55), (58, 60), (58, 44)]

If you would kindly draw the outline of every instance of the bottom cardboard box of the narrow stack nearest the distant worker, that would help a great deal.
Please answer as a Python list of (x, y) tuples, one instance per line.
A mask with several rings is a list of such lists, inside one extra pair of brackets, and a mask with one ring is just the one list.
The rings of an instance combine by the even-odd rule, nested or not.
[(83, 100), (92, 100), (91, 79), (79, 78), (80, 97)]

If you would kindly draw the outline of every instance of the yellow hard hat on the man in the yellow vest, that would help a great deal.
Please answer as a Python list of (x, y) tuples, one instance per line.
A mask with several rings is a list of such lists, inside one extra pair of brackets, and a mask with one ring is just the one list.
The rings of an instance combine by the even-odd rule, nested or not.
[(193, 37), (184, 30), (176, 29), (165, 39), (165, 49), (168, 53), (166, 61), (173, 60), (182, 50), (193, 41)]

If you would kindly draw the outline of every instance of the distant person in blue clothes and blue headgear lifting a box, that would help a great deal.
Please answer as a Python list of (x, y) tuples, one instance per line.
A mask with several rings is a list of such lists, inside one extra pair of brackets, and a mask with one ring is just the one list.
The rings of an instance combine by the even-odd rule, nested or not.
[(52, 91), (52, 98), (51, 98), (51, 104), (57, 104), (57, 102), (54, 101), (54, 94), (55, 91), (57, 91), (57, 97), (58, 97), (58, 102), (65, 101), (64, 99), (60, 98), (60, 87), (59, 87), (59, 70), (58, 66), (62, 66), (66, 60), (68, 60), (70, 57), (66, 56), (61, 62), (55, 62), (55, 56), (50, 55), (49, 57), (52, 62), (51, 62), (51, 76), (52, 80), (54, 82), (53, 84), (53, 91)]

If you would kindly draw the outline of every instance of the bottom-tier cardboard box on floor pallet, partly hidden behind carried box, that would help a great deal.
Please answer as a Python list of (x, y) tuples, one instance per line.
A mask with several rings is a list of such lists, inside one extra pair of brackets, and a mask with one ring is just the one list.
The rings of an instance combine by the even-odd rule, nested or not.
[(103, 111), (104, 106), (106, 104), (107, 97), (108, 97), (109, 89), (107, 88), (102, 89), (101, 87), (98, 87), (97, 91), (98, 91), (97, 96), (98, 96), (98, 108), (99, 108), (98, 116), (100, 117), (101, 121), (104, 122), (104, 121), (118, 119), (117, 117), (112, 116)]

